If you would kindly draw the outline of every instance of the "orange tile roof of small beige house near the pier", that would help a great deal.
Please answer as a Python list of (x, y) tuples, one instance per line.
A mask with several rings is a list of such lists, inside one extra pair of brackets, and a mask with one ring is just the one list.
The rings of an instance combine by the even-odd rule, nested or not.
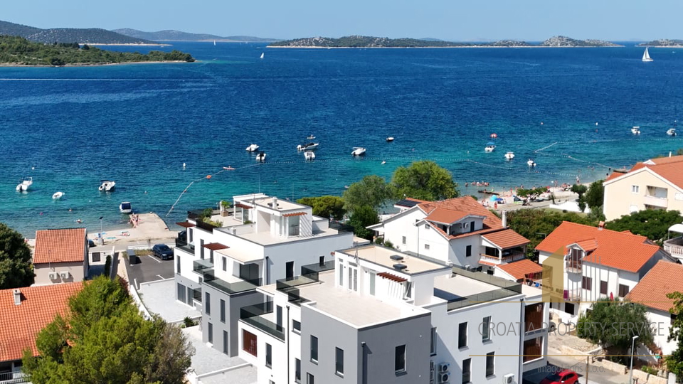
[(48, 262), (83, 262), (85, 228), (36, 230), (33, 264)]

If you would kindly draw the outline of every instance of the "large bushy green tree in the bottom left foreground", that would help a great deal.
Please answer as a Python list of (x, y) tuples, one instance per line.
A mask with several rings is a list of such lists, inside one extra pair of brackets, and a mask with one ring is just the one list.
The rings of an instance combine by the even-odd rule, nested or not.
[(146, 320), (122, 284), (106, 277), (84, 283), (38, 333), (38, 357), (24, 351), (32, 383), (182, 384), (194, 349), (178, 327)]

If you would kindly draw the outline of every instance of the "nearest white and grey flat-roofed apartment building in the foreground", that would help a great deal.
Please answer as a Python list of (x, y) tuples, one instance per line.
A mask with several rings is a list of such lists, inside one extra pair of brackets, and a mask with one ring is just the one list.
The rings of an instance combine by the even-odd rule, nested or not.
[(378, 245), (302, 272), (241, 311), (258, 383), (521, 383), (546, 365), (540, 289)]

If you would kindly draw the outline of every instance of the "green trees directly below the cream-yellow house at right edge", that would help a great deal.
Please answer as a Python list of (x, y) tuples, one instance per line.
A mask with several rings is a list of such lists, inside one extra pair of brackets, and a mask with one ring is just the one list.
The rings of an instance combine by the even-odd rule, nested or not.
[(648, 209), (639, 210), (630, 215), (608, 221), (605, 228), (616, 231), (630, 230), (662, 245), (669, 233), (669, 227), (683, 222), (683, 216), (677, 210)]

